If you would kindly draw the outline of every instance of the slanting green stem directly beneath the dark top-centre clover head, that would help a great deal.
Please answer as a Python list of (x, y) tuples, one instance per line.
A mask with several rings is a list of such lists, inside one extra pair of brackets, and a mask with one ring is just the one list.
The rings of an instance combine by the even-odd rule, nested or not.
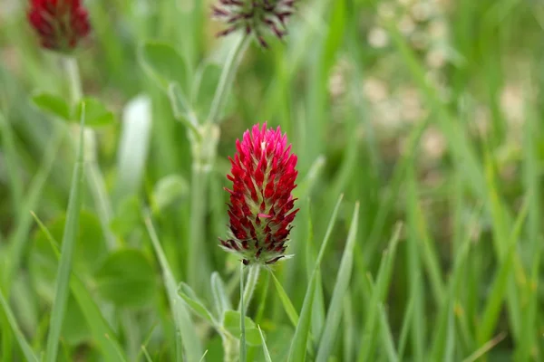
[(232, 88), (232, 82), (238, 71), (238, 65), (240, 64), (246, 49), (248, 49), (250, 39), (251, 38), (246, 34), (239, 35), (237, 43), (228, 53), (227, 62), (221, 72), (221, 78), (219, 78), (218, 88), (216, 89), (213, 101), (211, 102), (208, 119), (206, 120), (207, 122), (219, 122), (220, 113), (223, 110), (225, 100), (227, 100), (228, 92)]

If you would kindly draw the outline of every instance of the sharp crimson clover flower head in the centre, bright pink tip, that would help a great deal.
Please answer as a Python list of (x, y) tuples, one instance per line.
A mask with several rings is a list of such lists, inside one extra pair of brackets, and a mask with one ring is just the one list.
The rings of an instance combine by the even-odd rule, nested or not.
[(262, 128), (257, 124), (247, 130), (237, 152), (228, 157), (232, 181), (228, 216), (227, 240), (219, 239), (221, 247), (234, 252), (242, 262), (271, 264), (285, 258), (291, 223), (298, 209), (296, 198), (296, 155), (287, 146), (287, 135), (281, 129)]

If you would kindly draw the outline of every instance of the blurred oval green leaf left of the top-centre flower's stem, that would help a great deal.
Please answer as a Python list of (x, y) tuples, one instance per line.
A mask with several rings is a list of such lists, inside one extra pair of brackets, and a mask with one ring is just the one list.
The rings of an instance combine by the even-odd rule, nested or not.
[(141, 45), (142, 65), (155, 81), (166, 90), (171, 82), (177, 82), (182, 89), (187, 86), (185, 59), (168, 43), (148, 41)]

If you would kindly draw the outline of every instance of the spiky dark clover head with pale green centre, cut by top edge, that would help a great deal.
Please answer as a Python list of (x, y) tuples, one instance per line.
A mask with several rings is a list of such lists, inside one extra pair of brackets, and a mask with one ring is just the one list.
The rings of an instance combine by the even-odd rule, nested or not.
[(264, 33), (282, 39), (287, 34), (287, 19), (295, 12), (295, 4), (296, 0), (219, 0), (212, 6), (212, 15), (228, 24), (218, 36), (244, 29), (248, 34), (255, 33), (258, 42), (267, 48)]

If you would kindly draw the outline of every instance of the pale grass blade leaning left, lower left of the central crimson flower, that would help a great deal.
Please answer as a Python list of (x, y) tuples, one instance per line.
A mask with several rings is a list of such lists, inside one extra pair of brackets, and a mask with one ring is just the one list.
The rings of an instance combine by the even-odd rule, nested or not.
[(198, 361), (200, 357), (202, 357), (202, 348), (195, 326), (190, 319), (189, 310), (187, 309), (185, 302), (178, 295), (178, 286), (174, 279), (174, 274), (170, 270), (166, 255), (160, 246), (159, 236), (151, 223), (151, 216), (149, 213), (144, 214), (144, 221), (151, 238), (153, 249), (159, 259), (164, 285), (170, 301), (170, 308), (174, 316), (176, 332), (180, 336), (180, 338), (176, 338), (176, 348), (178, 348), (177, 356), (180, 357), (180, 351), (184, 350), (189, 361)]

